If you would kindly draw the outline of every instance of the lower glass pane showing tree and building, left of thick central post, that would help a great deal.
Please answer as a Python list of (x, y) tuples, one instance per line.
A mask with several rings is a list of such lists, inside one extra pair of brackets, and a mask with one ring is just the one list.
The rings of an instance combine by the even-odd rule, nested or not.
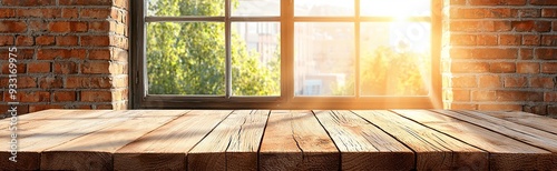
[(233, 22), (232, 89), (234, 95), (281, 94), (281, 24)]

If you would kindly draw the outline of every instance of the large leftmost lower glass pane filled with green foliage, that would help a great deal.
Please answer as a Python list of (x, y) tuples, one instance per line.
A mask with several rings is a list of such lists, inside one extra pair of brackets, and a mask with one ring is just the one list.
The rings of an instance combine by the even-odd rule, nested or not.
[(225, 94), (225, 40), (221, 22), (147, 24), (149, 94)]

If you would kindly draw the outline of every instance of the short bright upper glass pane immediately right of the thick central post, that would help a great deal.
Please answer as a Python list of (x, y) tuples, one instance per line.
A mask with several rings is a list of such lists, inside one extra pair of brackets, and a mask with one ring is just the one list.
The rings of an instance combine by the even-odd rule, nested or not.
[(294, 0), (296, 17), (354, 16), (353, 0)]

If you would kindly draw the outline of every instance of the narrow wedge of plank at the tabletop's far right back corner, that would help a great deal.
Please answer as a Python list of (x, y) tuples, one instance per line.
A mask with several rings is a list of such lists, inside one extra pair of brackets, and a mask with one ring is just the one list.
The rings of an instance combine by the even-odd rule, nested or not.
[(481, 112), (481, 113), (557, 134), (557, 119), (527, 112)]

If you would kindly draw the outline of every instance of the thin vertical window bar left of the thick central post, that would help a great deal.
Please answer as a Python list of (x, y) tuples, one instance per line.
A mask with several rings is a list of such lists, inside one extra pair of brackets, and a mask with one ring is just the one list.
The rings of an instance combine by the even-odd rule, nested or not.
[(225, 50), (226, 50), (226, 71), (225, 71), (225, 83), (226, 83), (226, 91), (225, 91), (225, 97), (226, 99), (229, 99), (232, 97), (232, 48), (231, 48), (231, 41), (232, 41), (232, 23), (231, 23), (231, 0), (225, 0), (224, 2), (224, 24), (225, 24)]

